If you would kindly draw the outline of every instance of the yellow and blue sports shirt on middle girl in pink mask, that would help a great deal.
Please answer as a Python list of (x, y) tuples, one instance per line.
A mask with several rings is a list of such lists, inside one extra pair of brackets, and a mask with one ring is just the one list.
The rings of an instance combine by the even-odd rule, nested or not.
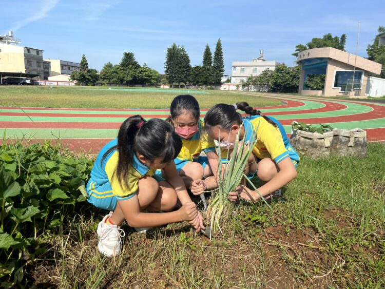
[(204, 152), (216, 151), (214, 141), (207, 141), (207, 137), (203, 132), (203, 122), (198, 121), (199, 130), (189, 139), (182, 140), (182, 149), (178, 157), (175, 159), (175, 164), (178, 165), (185, 161), (194, 161), (199, 158), (202, 150)]

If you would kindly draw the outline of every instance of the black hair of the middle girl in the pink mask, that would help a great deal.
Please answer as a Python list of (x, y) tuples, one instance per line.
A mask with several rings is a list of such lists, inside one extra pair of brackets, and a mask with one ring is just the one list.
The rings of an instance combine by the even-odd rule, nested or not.
[(190, 113), (197, 121), (201, 116), (198, 101), (190, 94), (181, 94), (172, 100), (170, 105), (170, 116), (166, 121), (172, 123), (172, 120), (175, 120), (179, 115), (184, 113)]

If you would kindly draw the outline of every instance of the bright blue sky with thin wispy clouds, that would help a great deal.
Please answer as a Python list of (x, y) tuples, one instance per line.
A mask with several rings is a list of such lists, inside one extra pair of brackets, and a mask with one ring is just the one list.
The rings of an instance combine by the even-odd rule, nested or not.
[(225, 72), (232, 61), (248, 61), (264, 50), (266, 60), (293, 66), (297, 44), (313, 37), (347, 34), (346, 50), (367, 56), (385, 1), (119, 1), (0, 0), (0, 34), (14, 30), (23, 46), (43, 49), (44, 58), (80, 62), (98, 70), (118, 64), (123, 52), (163, 73), (167, 47), (184, 45), (191, 65), (202, 64), (206, 44), (214, 52), (221, 38)]

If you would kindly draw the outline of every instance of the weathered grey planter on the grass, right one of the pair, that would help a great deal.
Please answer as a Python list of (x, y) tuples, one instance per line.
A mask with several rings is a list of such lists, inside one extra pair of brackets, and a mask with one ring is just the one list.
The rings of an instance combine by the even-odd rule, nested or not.
[(336, 156), (365, 158), (367, 156), (367, 132), (360, 129), (333, 129), (330, 153)]

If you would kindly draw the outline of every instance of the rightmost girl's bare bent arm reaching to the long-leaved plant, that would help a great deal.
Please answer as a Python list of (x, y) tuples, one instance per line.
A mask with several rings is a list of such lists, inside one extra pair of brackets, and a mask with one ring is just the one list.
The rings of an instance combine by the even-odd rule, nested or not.
[[(270, 181), (258, 188), (259, 193), (264, 197), (277, 189), (283, 187), (297, 177), (297, 170), (290, 158), (285, 158), (278, 163), (279, 172)], [(236, 192), (229, 193), (229, 200), (236, 201), (238, 196), (248, 201), (259, 199), (257, 191), (247, 188), (246, 186), (238, 186)]]

